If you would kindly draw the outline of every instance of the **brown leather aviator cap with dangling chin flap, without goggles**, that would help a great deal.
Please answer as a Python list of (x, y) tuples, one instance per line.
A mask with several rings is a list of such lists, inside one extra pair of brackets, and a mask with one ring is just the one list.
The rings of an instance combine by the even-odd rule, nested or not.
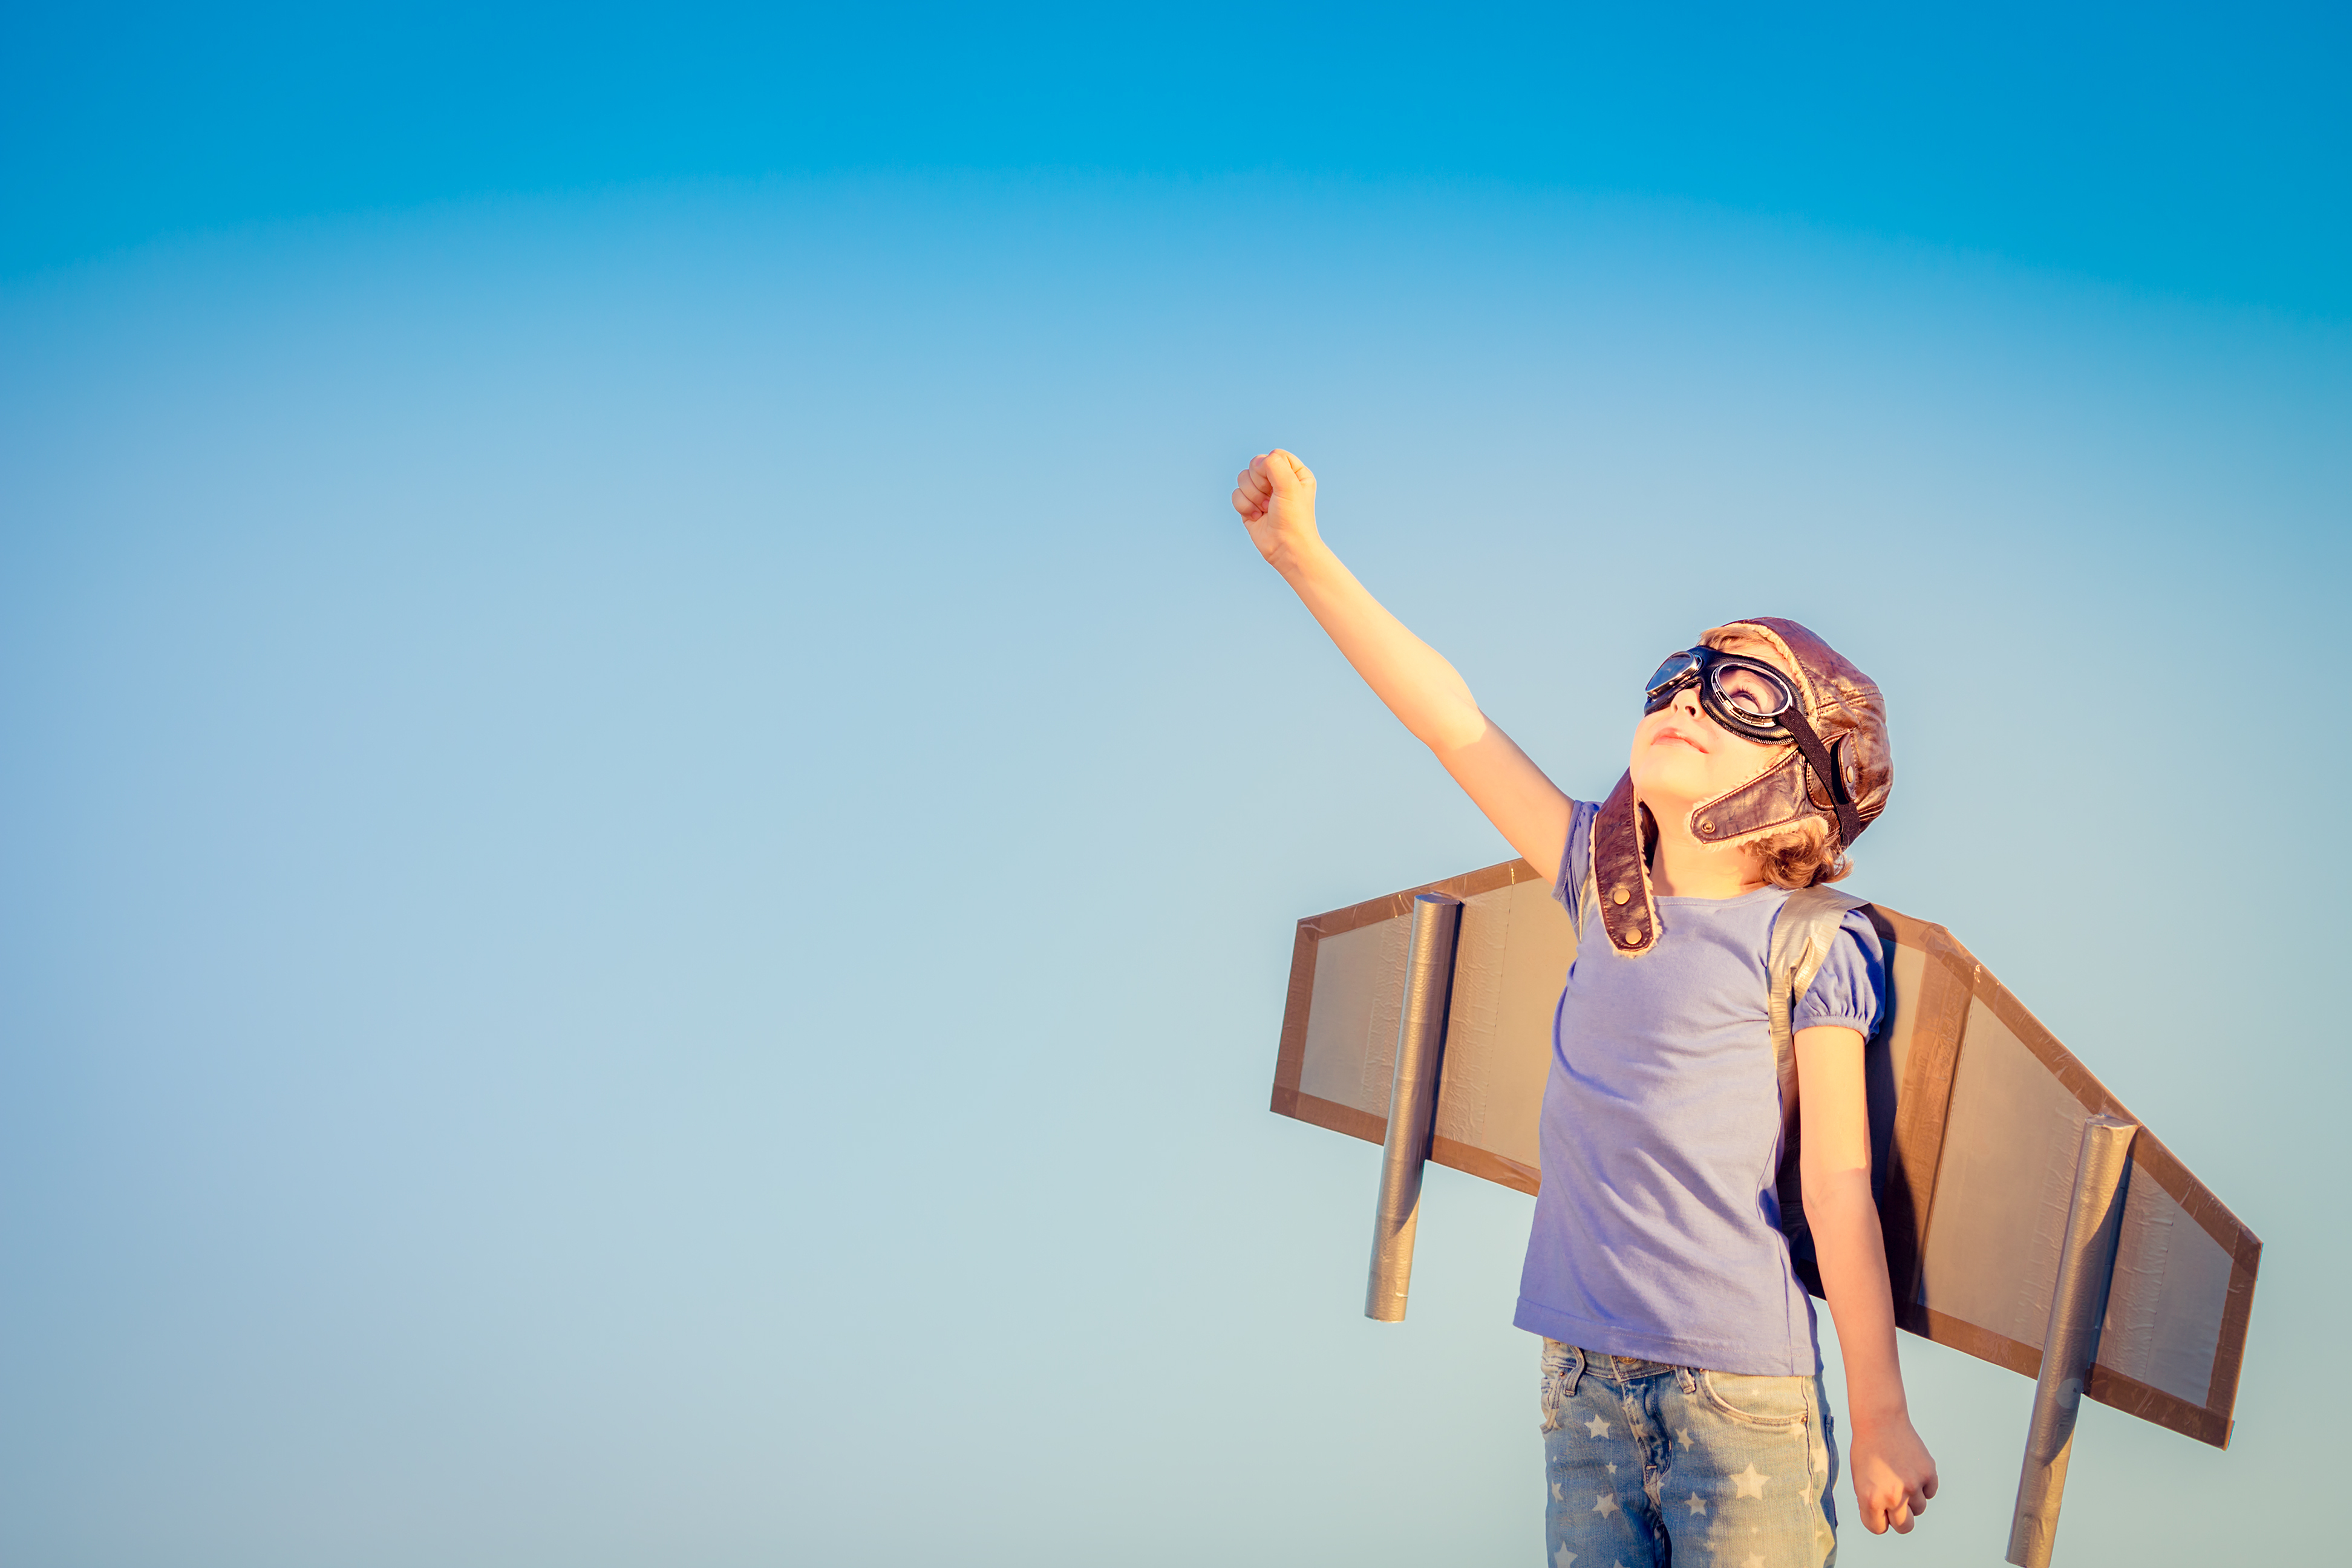
[[(1776, 616), (1717, 625), (1700, 642), (1722, 651), (1762, 642), (1790, 675), (1804, 715), (1783, 717), (1797, 741), (1773, 748), (1755, 778), (1691, 809), (1691, 837), (1719, 846), (1750, 844), (1813, 816), (1828, 825), (1837, 851), (1851, 849), (1886, 809), (1896, 783), (1886, 698), (1877, 684), (1828, 642)], [(1628, 771), (1592, 820), (1592, 891), (1609, 943), (1625, 957), (1639, 957), (1658, 940), (1658, 896), (1649, 884), (1653, 837), (1649, 806), (1635, 802)]]

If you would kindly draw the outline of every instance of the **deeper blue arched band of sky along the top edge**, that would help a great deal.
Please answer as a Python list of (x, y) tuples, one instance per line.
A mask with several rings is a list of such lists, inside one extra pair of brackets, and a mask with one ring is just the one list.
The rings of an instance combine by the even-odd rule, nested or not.
[(482, 193), (1289, 172), (1679, 197), (2352, 306), (2326, 5), (14, 7), (9, 270)]

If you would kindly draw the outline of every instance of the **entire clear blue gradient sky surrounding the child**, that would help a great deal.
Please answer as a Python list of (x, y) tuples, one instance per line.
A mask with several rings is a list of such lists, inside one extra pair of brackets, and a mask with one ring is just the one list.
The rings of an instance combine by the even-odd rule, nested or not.
[[(339, 16), (0, 52), (0, 1556), (1534, 1561), (1526, 1199), (1371, 1326), (1263, 1110), (1291, 922), (1505, 853), (1272, 440), (1576, 795), (1724, 616), (1886, 686), (1851, 886), (2267, 1244), (2067, 1561), (2328, 1549), (2340, 16)], [(1844, 1552), (1990, 1561), (1905, 1354)]]

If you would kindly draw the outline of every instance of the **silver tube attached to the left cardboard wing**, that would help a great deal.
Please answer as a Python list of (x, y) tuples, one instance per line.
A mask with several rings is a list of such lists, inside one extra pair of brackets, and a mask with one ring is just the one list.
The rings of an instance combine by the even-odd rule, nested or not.
[(1397, 1067), (1388, 1088), (1388, 1140), (1381, 1145), (1381, 1204), (1371, 1215), (1371, 1276), (1364, 1316), (1404, 1321), (1414, 1281), (1414, 1225), (1421, 1220), (1421, 1166), (1437, 1121), (1437, 1063), (1446, 1046), (1454, 990), (1454, 940), (1463, 905), (1444, 893), (1414, 898), (1414, 943), (1404, 959), (1404, 1009), (1397, 1018)]

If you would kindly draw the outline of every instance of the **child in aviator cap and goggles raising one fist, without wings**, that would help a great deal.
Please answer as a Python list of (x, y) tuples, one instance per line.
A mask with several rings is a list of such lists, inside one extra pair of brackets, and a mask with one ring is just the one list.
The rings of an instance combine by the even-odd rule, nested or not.
[[(1792, 621), (1717, 628), (1651, 677), (1609, 802), (1571, 802), (1322, 543), (1298, 458), (1251, 458), (1232, 505), (1357, 675), (1578, 919), (1515, 1319), (1543, 1335), (1548, 1561), (1835, 1559), (1837, 1450), (1783, 1222), (1811, 1229), (1837, 1319), (1863, 1526), (1910, 1533), (1936, 1462), (1903, 1399), (1870, 1197), (1863, 1041), (1884, 957), (1851, 900), (1797, 891), (1842, 877), (1886, 804), (1877, 686)], [(1792, 898), (1835, 924), (1776, 1018), (1769, 954)], [(1802, 1220), (1776, 1180), (1788, 1138)]]

